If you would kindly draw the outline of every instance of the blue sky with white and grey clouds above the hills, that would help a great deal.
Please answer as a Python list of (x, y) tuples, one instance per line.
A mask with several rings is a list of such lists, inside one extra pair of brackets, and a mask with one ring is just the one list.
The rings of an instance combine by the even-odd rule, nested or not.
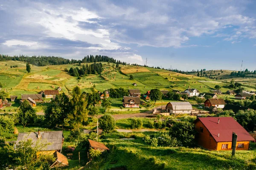
[(0, 0), (0, 54), (256, 69), (256, 0)]

